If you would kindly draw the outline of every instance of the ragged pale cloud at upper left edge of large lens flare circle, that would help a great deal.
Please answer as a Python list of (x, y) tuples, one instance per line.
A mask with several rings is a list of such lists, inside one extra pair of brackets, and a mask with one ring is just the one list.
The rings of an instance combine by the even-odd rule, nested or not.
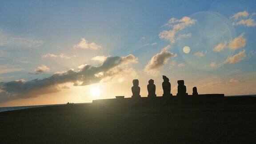
[(192, 26), (195, 23), (196, 23), (196, 20), (193, 20), (188, 16), (184, 16), (180, 20), (177, 20), (176, 18), (171, 18), (167, 24), (164, 24), (164, 26), (172, 27), (172, 29), (169, 31), (160, 32), (159, 37), (161, 39), (168, 40), (171, 43), (175, 43), (177, 39), (191, 36), (191, 33), (183, 34), (180, 36), (176, 36), (176, 34), (180, 30), (188, 26)]

